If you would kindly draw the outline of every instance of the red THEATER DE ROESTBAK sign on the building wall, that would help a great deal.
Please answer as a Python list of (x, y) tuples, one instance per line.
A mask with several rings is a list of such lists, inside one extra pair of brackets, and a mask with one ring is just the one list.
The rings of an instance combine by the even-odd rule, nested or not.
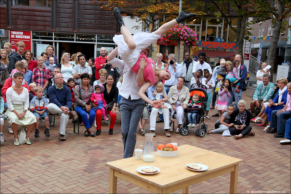
[(10, 43), (12, 45), (13, 52), (17, 51), (16, 43), (18, 41), (24, 42), (24, 51), (31, 51), (31, 31), (10, 30)]

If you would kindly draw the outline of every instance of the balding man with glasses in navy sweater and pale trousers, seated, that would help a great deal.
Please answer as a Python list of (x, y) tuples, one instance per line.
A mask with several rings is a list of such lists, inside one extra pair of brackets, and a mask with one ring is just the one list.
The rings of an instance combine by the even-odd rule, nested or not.
[(47, 111), (53, 115), (61, 116), (59, 138), (65, 141), (65, 130), (68, 124), (70, 109), (72, 107), (72, 93), (70, 88), (63, 85), (63, 75), (58, 73), (54, 76), (55, 85), (49, 87), (49, 105)]

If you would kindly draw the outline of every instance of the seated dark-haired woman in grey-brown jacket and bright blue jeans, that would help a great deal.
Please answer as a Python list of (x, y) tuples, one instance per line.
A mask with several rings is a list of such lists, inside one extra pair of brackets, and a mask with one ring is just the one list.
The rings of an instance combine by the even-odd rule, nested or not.
[[(81, 75), (81, 84), (74, 88), (74, 108), (77, 113), (82, 117), (82, 121), (85, 125), (85, 136), (95, 137), (95, 134), (91, 131), (92, 124), (95, 120), (95, 111), (92, 108), (90, 97), (94, 92), (93, 87), (90, 86), (90, 75), (83, 73)], [(87, 116), (89, 114), (89, 119)]]

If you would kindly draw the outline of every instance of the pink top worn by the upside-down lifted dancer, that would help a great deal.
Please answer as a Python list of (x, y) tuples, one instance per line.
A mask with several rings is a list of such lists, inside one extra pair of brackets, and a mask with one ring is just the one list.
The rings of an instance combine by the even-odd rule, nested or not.
[(137, 59), (136, 63), (131, 68), (131, 70), (136, 74), (139, 72), (139, 59), (140, 58), (145, 58), (145, 63), (148, 62), (147, 66), (145, 67), (145, 69), (143, 71), (143, 80), (146, 81), (148, 79), (148, 80), (150, 80), (151, 85), (154, 85), (154, 83), (156, 81), (156, 75), (155, 75), (154, 69), (151, 65), (151, 63), (155, 64), (154, 60), (147, 58), (143, 54), (140, 54), (139, 58)]

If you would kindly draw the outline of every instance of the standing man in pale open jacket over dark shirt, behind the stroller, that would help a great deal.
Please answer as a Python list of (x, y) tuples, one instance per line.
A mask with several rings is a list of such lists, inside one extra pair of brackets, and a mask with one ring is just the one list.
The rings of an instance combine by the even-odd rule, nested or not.
[(193, 66), (195, 61), (193, 59), (190, 58), (190, 53), (186, 52), (185, 56), (184, 56), (184, 61), (181, 64), (182, 68), (183, 68), (183, 72), (182, 72), (182, 76), (185, 78), (185, 83), (184, 86), (188, 87), (189, 90), (191, 89), (191, 79), (193, 76), (192, 72), (193, 72)]

